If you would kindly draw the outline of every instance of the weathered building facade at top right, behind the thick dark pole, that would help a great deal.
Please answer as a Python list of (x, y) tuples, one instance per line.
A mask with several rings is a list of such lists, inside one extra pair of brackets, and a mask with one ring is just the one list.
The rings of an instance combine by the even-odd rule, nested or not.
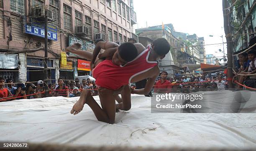
[(230, 0), (228, 18), (233, 52), (248, 47), (256, 32), (256, 1)]

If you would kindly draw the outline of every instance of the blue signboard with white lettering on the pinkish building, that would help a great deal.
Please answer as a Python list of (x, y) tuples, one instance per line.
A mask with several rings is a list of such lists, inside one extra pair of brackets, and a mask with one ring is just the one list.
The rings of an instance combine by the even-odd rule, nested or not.
[[(36, 35), (38, 37), (44, 38), (44, 23), (33, 22), (31, 25), (25, 25), (25, 33)], [(47, 36), (48, 39), (57, 41), (57, 28), (56, 26), (49, 25), (47, 26)]]

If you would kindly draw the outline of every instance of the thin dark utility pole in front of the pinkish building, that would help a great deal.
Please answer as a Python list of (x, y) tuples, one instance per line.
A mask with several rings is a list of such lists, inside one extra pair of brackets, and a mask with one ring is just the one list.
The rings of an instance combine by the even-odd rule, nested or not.
[(48, 97), (48, 86), (47, 86), (47, 79), (48, 79), (48, 73), (47, 73), (47, 61), (48, 61), (48, 31), (47, 31), (47, 25), (48, 25), (48, 14), (47, 14), (47, 8), (46, 5), (44, 5), (44, 84), (45, 84), (45, 94), (46, 97)]

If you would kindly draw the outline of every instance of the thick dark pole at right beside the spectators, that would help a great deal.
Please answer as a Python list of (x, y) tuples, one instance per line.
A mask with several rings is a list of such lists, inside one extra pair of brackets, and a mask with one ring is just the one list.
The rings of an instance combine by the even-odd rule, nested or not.
[(227, 0), (222, 0), (222, 7), (223, 7), (223, 19), (224, 19), (224, 30), (225, 30), (225, 37), (227, 40), (227, 54), (228, 54), (228, 86), (229, 88), (233, 88), (232, 83), (232, 43), (231, 43), (231, 37), (230, 37), (230, 30), (229, 30), (229, 21), (228, 21), (228, 14), (229, 10), (227, 8)]

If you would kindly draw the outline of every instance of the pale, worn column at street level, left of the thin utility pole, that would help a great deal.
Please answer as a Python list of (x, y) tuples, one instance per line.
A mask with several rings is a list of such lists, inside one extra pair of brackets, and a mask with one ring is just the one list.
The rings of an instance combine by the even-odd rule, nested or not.
[(19, 81), (26, 82), (27, 81), (27, 59), (26, 53), (19, 53)]

